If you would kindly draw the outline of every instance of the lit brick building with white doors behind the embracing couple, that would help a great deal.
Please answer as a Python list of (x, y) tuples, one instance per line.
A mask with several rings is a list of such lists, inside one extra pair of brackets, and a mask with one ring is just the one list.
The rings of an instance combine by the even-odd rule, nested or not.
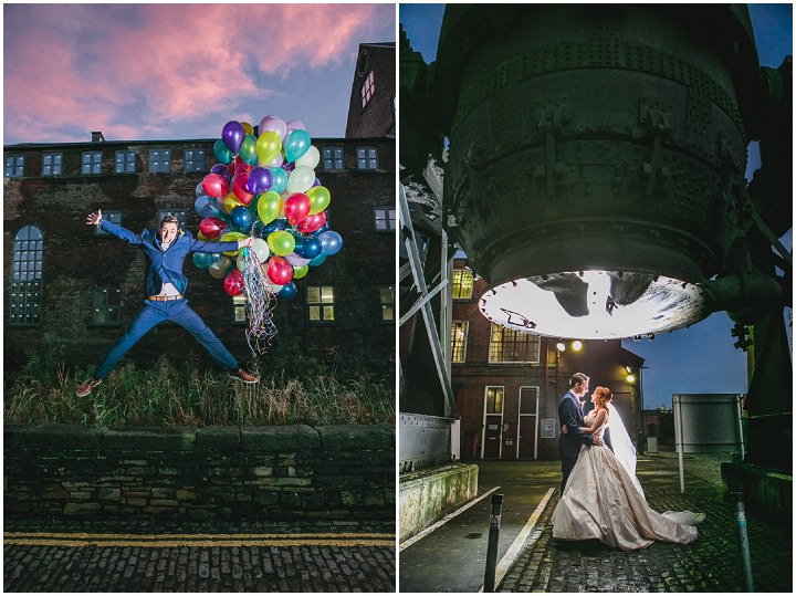
[(488, 284), (465, 260), (454, 260), (452, 287), (451, 378), (463, 460), (557, 459), (557, 405), (577, 372), (590, 377), (589, 397), (598, 385), (611, 389), (637, 441), (642, 358), (619, 339), (582, 342), (578, 351), (564, 341), (559, 351), (557, 338), (493, 326), (478, 309)]

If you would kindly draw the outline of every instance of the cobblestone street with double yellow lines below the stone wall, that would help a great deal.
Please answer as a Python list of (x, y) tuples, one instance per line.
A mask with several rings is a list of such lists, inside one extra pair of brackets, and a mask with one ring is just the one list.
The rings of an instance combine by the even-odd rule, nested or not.
[(4, 592), (395, 593), (395, 526), (3, 521)]

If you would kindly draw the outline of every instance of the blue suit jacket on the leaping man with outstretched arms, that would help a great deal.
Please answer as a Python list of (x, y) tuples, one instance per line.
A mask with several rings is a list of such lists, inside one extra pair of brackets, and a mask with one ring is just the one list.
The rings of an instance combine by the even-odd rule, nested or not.
[(165, 251), (160, 248), (157, 230), (133, 233), (118, 223), (103, 219), (100, 227), (134, 247), (140, 247), (147, 258), (145, 290), (147, 296), (160, 293), (164, 283), (171, 283), (185, 296), (188, 278), (182, 273), (182, 263), (191, 252), (232, 252), (238, 242), (207, 242), (196, 240), (190, 232), (181, 232)]

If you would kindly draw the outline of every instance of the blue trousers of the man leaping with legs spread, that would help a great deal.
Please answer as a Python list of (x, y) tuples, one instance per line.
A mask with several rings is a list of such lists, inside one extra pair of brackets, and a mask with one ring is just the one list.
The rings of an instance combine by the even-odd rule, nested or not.
[(210, 327), (201, 320), (201, 317), (188, 306), (188, 301), (171, 300), (168, 302), (156, 302), (151, 300), (144, 301), (144, 309), (129, 328), (124, 333), (118, 343), (111, 348), (105, 359), (94, 372), (96, 378), (104, 379), (111, 370), (118, 364), (122, 357), (127, 354), (135, 343), (144, 337), (153, 327), (159, 325), (164, 321), (177, 323), (180, 327), (190, 333), (205, 349), (208, 351), (216, 362), (228, 370), (238, 368), (238, 360), (229, 349), (216, 337)]

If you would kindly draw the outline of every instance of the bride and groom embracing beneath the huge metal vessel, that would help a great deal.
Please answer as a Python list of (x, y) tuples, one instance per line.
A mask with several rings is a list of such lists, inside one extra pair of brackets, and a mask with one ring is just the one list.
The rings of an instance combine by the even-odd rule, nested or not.
[[(579, 398), (589, 379), (575, 373), (558, 402), (562, 435), (562, 498), (553, 514), (553, 537), (599, 540), (621, 551), (645, 548), (654, 541), (688, 544), (703, 514), (658, 513), (650, 509), (636, 478), (636, 448), (611, 404), (610, 389), (597, 387), (594, 409), (584, 418)], [(610, 427), (610, 443), (604, 433)]]

